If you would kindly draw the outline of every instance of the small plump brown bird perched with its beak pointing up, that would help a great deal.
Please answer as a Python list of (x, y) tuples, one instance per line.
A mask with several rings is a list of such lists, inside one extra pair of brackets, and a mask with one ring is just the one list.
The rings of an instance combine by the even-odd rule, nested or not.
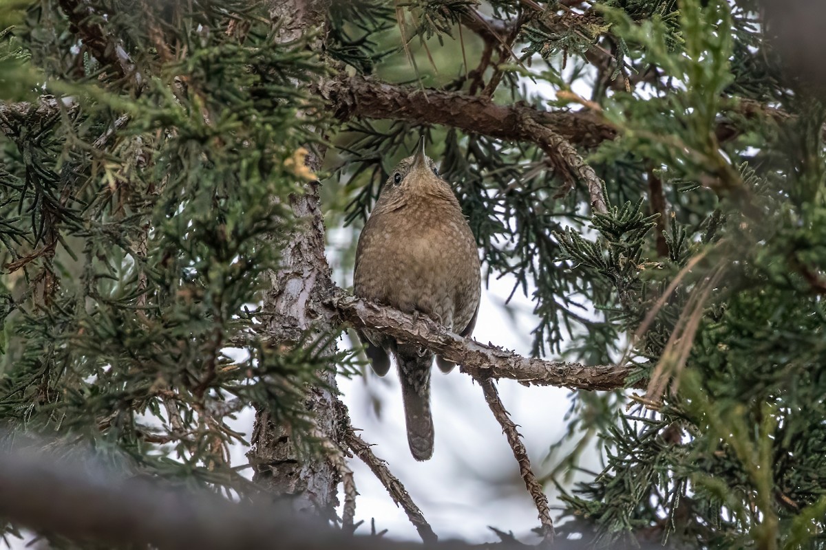
[[(358, 239), (354, 291), (404, 313), (421, 313), (469, 336), (476, 325), (481, 275), (476, 241), (456, 195), (425, 156), (425, 139), (399, 162)], [(379, 376), (396, 355), (407, 443), (417, 460), (433, 455), (430, 367), (433, 352), (380, 331), (360, 335)], [(437, 358), (447, 373), (455, 366)]]

